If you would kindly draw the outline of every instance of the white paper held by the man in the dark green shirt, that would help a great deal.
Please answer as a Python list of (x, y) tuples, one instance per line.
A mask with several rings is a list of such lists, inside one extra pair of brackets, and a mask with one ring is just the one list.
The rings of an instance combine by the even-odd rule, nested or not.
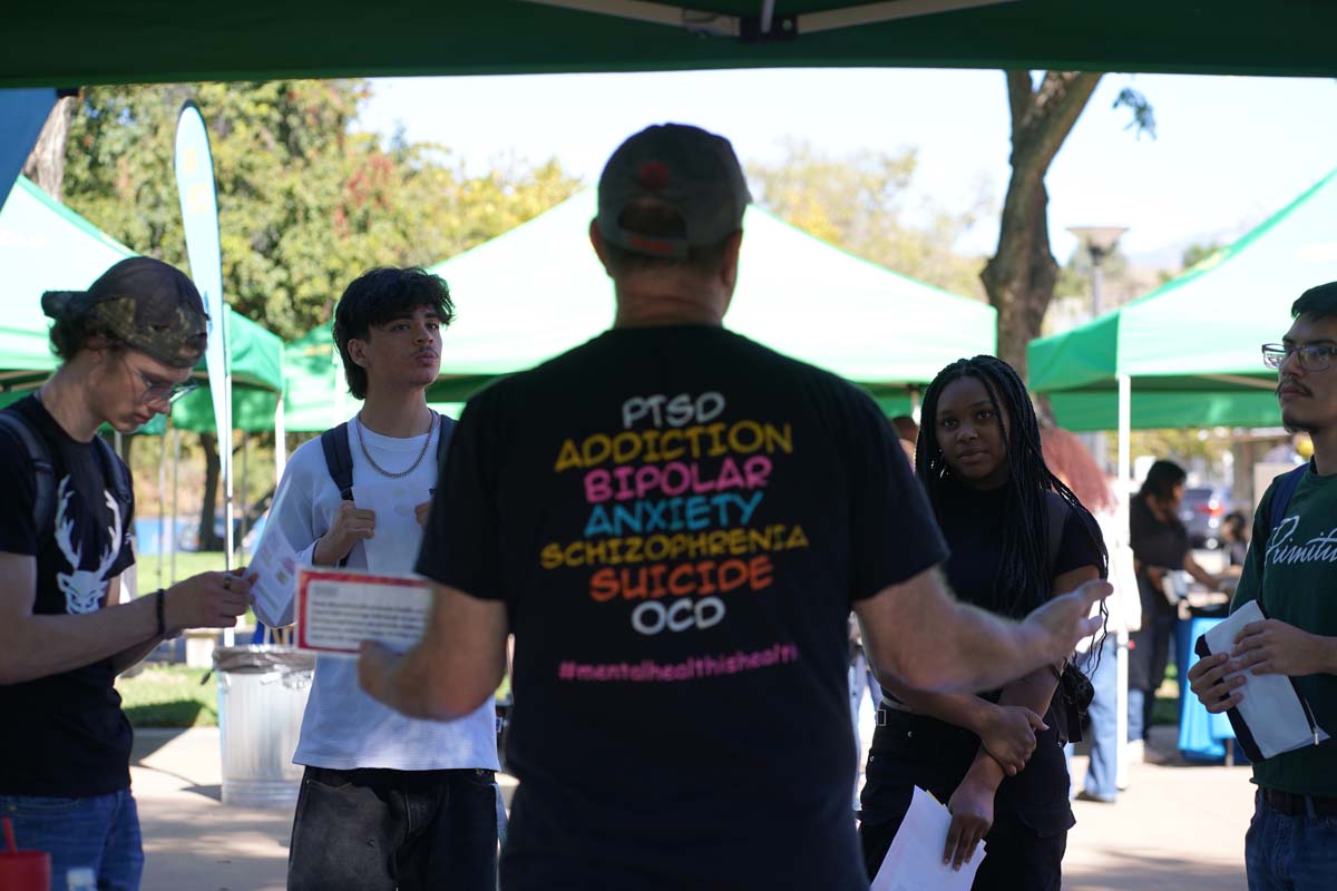
[[(1261, 622), (1266, 617), (1258, 608), (1258, 601), (1250, 600), (1237, 609), (1229, 618), (1207, 629), (1203, 637), (1207, 639), (1207, 648), (1213, 653), (1230, 652), (1235, 645), (1235, 636), (1250, 622)], [(1243, 699), (1235, 708), (1239, 717), (1249, 725), (1254, 743), (1263, 757), (1293, 752), (1306, 745), (1317, 745), (1328, 739), (1328, 733), (1314, 724), (1310, 727), (1309, 716), (1305, 715), (1304, 705), (1292, 687), (1290, 679), (1285, 675), (1250, 675), (1249, 672), (1235, 672), (1227, 677), (1242, 673), (1245, 684), (1239, 688)]]

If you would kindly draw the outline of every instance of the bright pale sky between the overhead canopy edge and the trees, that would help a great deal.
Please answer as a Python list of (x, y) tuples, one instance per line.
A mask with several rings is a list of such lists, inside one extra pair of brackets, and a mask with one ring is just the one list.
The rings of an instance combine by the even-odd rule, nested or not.
[[(1123, 87), (1155, 107), (1157, 138), (1124, 130)], [(636, 75), (421, 77), (373, 81), (361, 126), (448, 146), (473, 172), (556, 158), (587, 183), (627, 135), (681, 120), (729, 136), (743, 162), (785, 139), (842, 156), (913, 147), (916, 199), (964, 210), (981, 183), (1001, 204), (1008, 116), (997, 71), (792, 69)], [(1127, 226), (1123, 248), (1173, 262), (1229, 239), (1337, 168), (1337, 81), (1106, 75), (1050, 170), (1054, 252), (1068, 226)], [(913, 199), (912, 199), (913, 200)], [(996, 216), (963, 250), (992, 252)]]

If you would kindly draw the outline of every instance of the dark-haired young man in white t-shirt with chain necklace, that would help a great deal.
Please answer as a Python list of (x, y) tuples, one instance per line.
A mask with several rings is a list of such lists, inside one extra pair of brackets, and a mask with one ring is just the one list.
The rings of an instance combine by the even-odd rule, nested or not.
[[(320, 441), (293, 454), (270, 522), (299, 562), (413, 570), (451, 425), (428, 407), (427, 387), (452, 313), (445, 282), (418, 269), (372, 270), (344, 291), (334, 342), (349, 393), (365, 402), (332, 435), (346, 435), (353, 500), (341, 497)], [(261, 618), (291, 622), (291, 602)], [(306, 773), (291, 891), (496, 886), (492, 701), (455, 721), (413, 720), (358, 689), (353, 660), (318, 657), (294, 760)]]

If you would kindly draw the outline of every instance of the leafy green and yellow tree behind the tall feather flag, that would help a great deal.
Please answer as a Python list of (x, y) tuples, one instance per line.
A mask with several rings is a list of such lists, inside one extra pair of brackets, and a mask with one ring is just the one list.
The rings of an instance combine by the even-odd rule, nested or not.
[(176, 115), (199, 103), (218, 184), (223, 293), (283, 338), (329, 319), (373, 266), (427, 266), (568, 198), (556, 162), (467, 175), (447, 148), (353, 124), (358, 80), (94, 87), (70, 122), (64, 200), (136, 251), (186, 267)]

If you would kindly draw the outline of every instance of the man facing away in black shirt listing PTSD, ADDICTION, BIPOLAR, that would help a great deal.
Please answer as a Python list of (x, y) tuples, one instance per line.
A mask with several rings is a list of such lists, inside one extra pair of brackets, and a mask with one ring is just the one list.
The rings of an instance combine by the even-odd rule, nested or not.
[(1058, 661), (1103, 584), (1024, 624), (956, 604), (885, 418), (721, 326), (750, 200), (729, 142), (651, 127), (590, 238), (612, 330), (467, 406), (418, 572), (424, 641), (364, 647), (414, 715), (491, 696), (515, 632), (501, 884), (866, 888), (846, 617), (881, 669), (975, 689)]

